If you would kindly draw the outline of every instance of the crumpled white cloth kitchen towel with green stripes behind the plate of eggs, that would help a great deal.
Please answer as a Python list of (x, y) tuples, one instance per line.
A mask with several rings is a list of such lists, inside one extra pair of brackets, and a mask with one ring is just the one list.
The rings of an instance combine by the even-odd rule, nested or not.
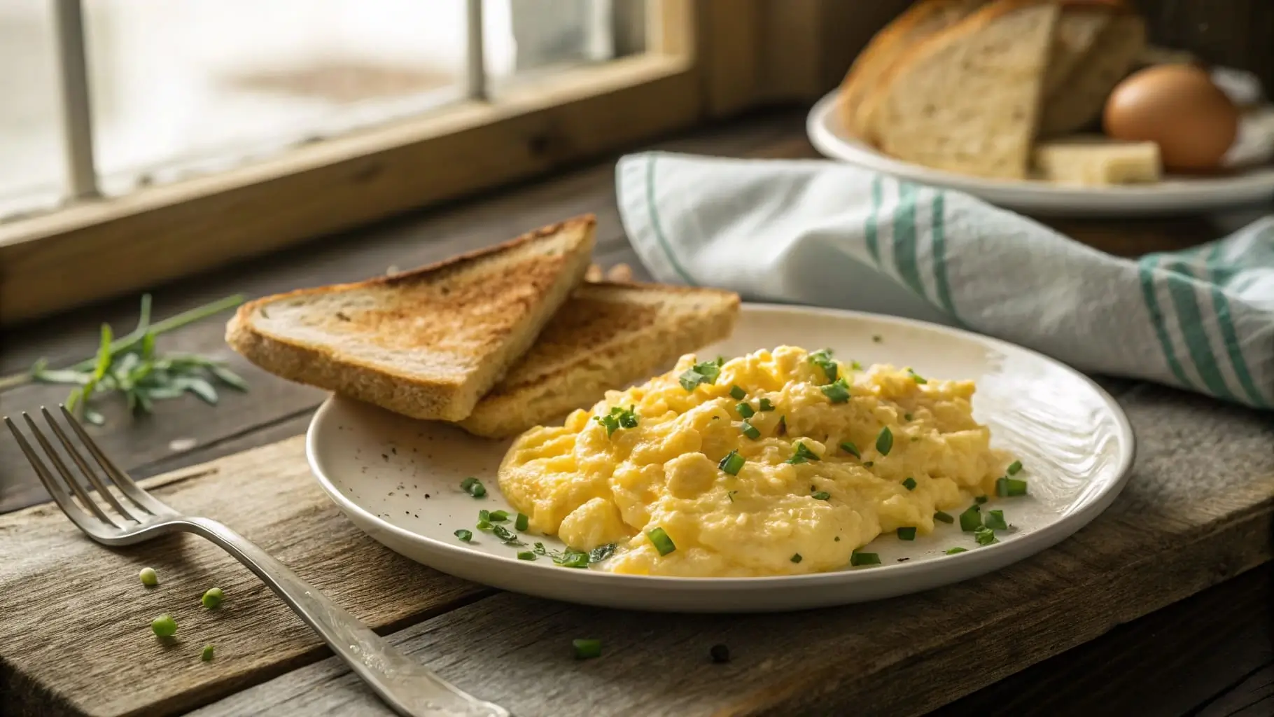
[(961, 326), (1080, 371), (1274, 406), (1274, 215), (1133, 261), (836, 162), (642, 153), (620, 159), (617, 187), (660, 281)]

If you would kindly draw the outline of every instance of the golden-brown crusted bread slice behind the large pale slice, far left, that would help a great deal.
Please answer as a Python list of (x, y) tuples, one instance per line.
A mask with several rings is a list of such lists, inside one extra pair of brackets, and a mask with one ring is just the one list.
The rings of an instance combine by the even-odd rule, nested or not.
[(841, 83), (841, 121), (851, 134), (866, 138), (870, 126), (868, 96), (880, 78), (913, 43), (971, 15), (987, 0), (921, 0), (887, 24), (859, 52)]

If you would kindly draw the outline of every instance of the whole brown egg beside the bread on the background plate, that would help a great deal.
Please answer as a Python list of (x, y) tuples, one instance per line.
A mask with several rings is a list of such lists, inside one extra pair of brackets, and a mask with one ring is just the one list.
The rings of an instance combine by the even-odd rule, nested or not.
[(1238, 108), (1208, 71), (1194, 65), (1156, 65), (1121, 82), (1106, 101), (1106, 134), (1153, 141), (1168, 169), (1220, 166), (1238, 134)]

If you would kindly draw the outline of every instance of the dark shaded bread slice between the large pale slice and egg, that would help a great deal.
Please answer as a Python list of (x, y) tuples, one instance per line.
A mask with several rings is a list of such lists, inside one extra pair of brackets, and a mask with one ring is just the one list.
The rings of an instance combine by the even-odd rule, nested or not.
[[(1101, 10), (1066, 10), (1068, 15), (1093, 15)], [(1045, 94), (1040, 136), (1055, 138), (1096, 124), (1110, 97), (1145, 52), (1145, 20), (1127, 11), (1110, 11), (1092, 47), (1065, 79)]]

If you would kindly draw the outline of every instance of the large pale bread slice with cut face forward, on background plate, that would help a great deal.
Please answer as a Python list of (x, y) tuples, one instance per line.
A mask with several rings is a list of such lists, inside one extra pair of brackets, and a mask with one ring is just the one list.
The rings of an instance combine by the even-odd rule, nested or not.
[(898, 60), (871, 101), (884, 152), (926, 167), (1022, 180), (1061, 8), (995, 0)]

